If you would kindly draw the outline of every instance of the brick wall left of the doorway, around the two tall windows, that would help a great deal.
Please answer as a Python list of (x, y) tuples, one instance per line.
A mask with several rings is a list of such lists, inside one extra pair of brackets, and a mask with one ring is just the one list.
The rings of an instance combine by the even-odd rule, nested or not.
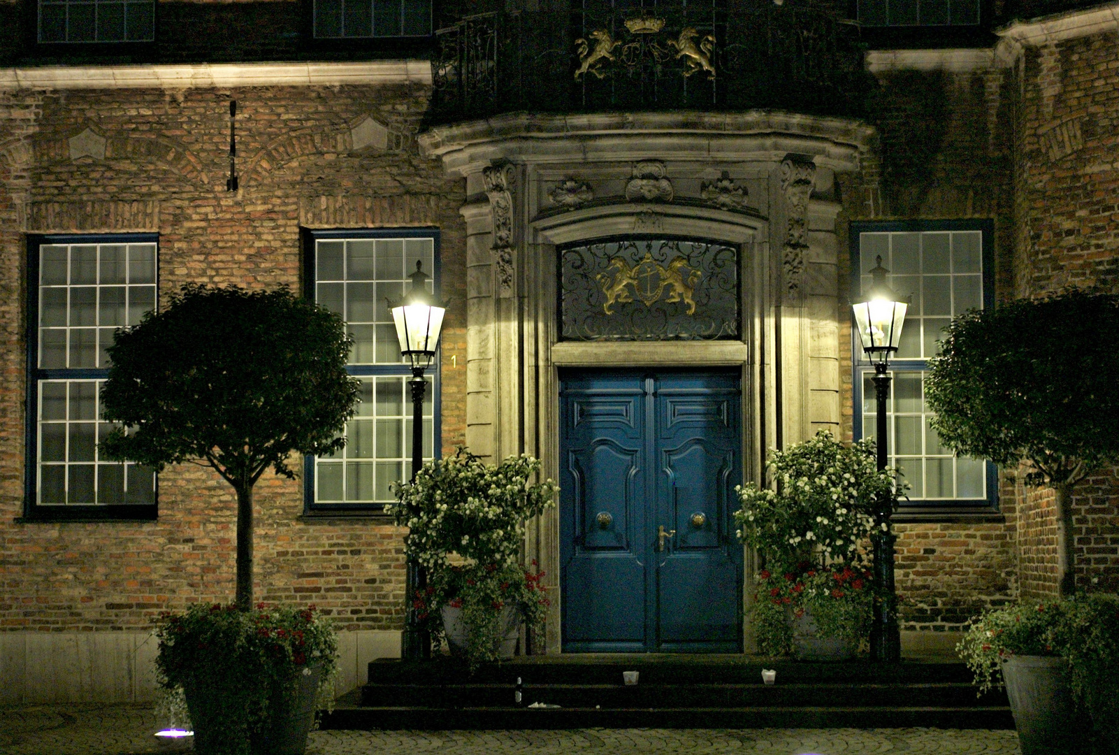
[[(160, 475), (156, 522), (13, 523), (23, 497), (23, 230), (158, 230), (166, 296), (187, 282), (299, 290), (301, 226), (436, 226), (452, 302), (444, 452), (463, 442), (463, 187), (415, 149), (427, 94), (397, 85), (0, 95), (0, 629), (142, 629), (159, 610), (234, 593), (235, 498), (208, 469)], [(237, 192), (225, 190), (231, 98)], [(354, 151), (351, 129), (367, 116), (387, 128), (386, 149)], [(104, 159), (72, 159), (68, 140), (86, 130), (104, 140)], [(255, 503), (262, 600), (317, 603), (347, 629), (402, 625), (398, 530), (384, 519), (301, 519), (299, 480), (266, 474)]]

